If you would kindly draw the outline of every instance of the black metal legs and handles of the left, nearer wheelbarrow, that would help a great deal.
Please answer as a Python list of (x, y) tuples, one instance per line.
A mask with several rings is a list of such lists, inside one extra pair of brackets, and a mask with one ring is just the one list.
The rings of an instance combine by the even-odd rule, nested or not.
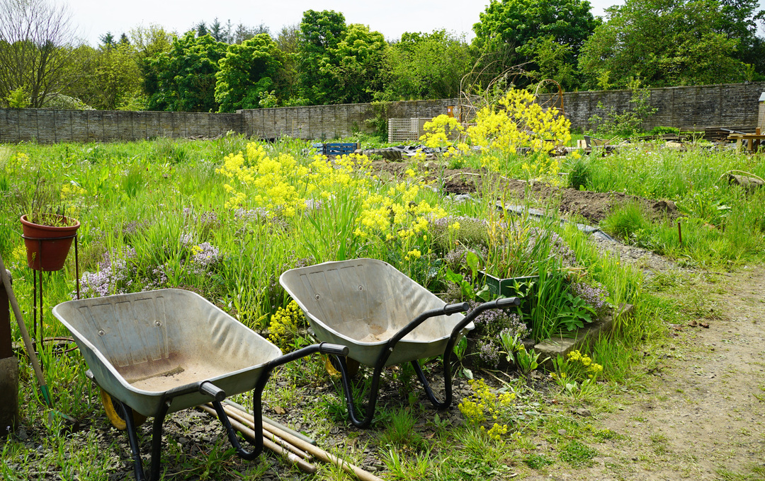
[[(282, 366), (282, 364), (291, 362), (293, 360), (300, 359), (301, 357), (310, 356), (313, 353), (334, 354), (337, 356), (346, 356), (348, 348), (344, 346), (338, 346), (337, 344), (313, 344), (302, 349), (295, 350), (291, 353), (287, 353), (281, 357), (270, 360), (263, 365), (263, 370), (260, 377), (257, 379), (255, 388), (252, 389), (252, 416), (255, 421), (256, 428), (262, 424), (262, 393), (265, 388), (265, 383), (268, 383), (269, 377), (271, 377), (272, 370), (275, 367)], [(236, 450), (236, 454), (244, 460), (254, 460), (263, 450), (263, 437), (257, 436), (251, 442), (252, 450), (246, 450), (239, 443), (239, 438), (236, 437), (236, 431), (231, 426), (226, 412), (223, 410), (221, 401), (226, 399), (226, 392), (223, 389), (219, 389), (210, 383), (210, 381), (201, 381), (200, 383), (187, 384), (186, 386), (179, 386), (174, 389), (170, 389), (164, 392), (161, 399), (161, 405), (159, 412), (155, 413), (154, 423), (151, 426), (151, 471), (148, 479), (151, 481), (157, 481), (160, 477), (160, 456), (162, 446), (162, 425), (164, 424), (164, 418), (168, 415), (168, 409), (170, 408), (173, 398), (180, 395), (190, 394), (192, 392), (201, 392), (203, 394), (210, 395), (212, 398), (213, 407), (220, 419), (223, 428), (226, 430), (226, 434), (229, 437), (229, 442)], [(109, 394), (111, 395), (111, 393)], [(112, 399), (116, 399), (112, 395)], [(128, 432), (128, 441), (130, 443), (130, 450), (133, 457), (133, 465), (135, 469), (135, 479), (137, 481), (145, 481), (146, 473), (143, 469), (143, 463), (141, 460), (141, 449), (138, 446), (138, 431), (136, 431), (135, 423), (133, 423), (133, 410), (125, 402), (120, 401), (122, 405), (122, 413), (125, 419), (126, 431)], [(258, 430), (256, 429), (256, 432)]]

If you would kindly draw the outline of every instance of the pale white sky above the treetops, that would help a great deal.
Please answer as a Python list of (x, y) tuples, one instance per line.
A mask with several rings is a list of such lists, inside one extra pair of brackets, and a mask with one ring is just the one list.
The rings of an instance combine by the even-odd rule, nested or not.
[[(474, 37), (472, 28), (488, 0), (127, 0), (104, 2), (104, 0), (60, 0), (68, 5), (72, 21), (79, 37), (96, 47), (99, 37), (107, 31), (119, 37), (123, 32), (143, 25), (158, 24), (167, 31), (183, 34), (200, 21), (211, 24), (218, 18), (236, 26), (248, 27), (266, 24), (272, 35), (278, 34), (284, 25), (299, 24), (306, 10), (334, 10), (345, 15), (348, 24), (365, 24), (379, 31), (387, 40), (397, 40), (409, 32), (431, 32), (441, 28), (457, 34)], [(593, 15), (604, 15), (604, 8), (621, 4), (620, 0), (594, 0)]]

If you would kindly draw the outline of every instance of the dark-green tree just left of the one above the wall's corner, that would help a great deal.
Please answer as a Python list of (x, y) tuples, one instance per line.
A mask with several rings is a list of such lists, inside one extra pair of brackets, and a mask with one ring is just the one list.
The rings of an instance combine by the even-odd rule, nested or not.
[(210, 35), (195, 37), (194, 31), (173, 40), (167, 53), (147, 60), (157, 73), (156, 85), (146, 85), (148, 108), (165, 111), (217, 111), (215, 101), (218, 62), (226, 44)]

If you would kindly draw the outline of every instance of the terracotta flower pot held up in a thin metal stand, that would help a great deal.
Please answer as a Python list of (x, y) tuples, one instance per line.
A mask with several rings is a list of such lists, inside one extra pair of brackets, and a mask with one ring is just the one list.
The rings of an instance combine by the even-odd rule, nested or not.
[(69, 248), (80, 222), (76, 219), (60, 216), (62, 223), (72, 225), (52, 226), (33, 224), (26, 215), (21, 216), (21, 230), (24, 232), (24, 245), (27, 247), (27, 264), (34, 270), (60, 270), (67, 260)]

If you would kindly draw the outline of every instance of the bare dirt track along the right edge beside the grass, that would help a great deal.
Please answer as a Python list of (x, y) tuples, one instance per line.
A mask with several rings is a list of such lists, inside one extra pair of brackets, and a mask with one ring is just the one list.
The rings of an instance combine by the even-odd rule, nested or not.
[(765, 268), (718, 281), (644, 392), (595, 419), (622, 438), (594, 445), (593, 466), (526, 479), (765, 479)]

